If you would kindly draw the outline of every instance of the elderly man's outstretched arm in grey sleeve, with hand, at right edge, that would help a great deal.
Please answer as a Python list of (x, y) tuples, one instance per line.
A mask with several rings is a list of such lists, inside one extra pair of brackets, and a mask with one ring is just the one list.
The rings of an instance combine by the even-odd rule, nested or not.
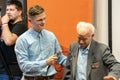
[(104, 80), (118, 80), (120, 77), (120, 63), (115, 59), (110, 49), (106, 48), (103, 54), (103, 61), (109, 69), (108, 76), (104, 77)]

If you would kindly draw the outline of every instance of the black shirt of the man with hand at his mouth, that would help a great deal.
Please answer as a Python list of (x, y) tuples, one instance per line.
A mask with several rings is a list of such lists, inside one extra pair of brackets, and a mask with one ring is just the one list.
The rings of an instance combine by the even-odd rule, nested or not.
[[(27, 26), (24, 23), (24, 21), (19, 21), (15, 24), (8, 24), (9, 29), (12, 33), (16, 34), (17, 36), (20, 36), (22, 33), (24, 33), (27, 30)], [(11, 70), (13, 75), (21, 75), (22, 72), (18, 66), (16, 55), (14, 52), (14, 46), (15, 44), (11, 46), (7, 46), (4, 42), (4, 40), (0, 41), (0, 47), (1, 47), (1, 54), (4, 56), (5, 61), (7, 62), (7, 65), (9, 66), (9, 69)], [(0, 73), (6, 73), (5, 66), (3, 65), (1, 59), (0, 59)]]

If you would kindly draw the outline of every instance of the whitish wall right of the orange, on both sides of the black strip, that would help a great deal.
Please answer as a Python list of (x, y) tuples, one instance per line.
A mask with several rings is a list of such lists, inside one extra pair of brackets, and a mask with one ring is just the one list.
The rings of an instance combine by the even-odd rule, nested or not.
[[(93, 0), (95, 39), (108, 45), (108, 0)], [(120, 61), (120, 0), (112, 0), (112, 50)]]

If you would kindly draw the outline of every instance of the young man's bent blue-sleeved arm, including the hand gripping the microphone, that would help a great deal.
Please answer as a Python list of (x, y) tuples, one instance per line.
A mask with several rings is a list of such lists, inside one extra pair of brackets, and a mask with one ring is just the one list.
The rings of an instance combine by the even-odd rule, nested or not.
[[(53, 65), (57, 61), (57, 57), (51, 56), (46, 60), (37, 60), (35, 58), (36, 53), (29, 53), (29, 44), (26, 39), (18, 38), (15, 45), (15, 52), (17, 56), (17, 61), (20, 66), (20, 69), (24, 73), (36, 73), (47, 67), (48, 65)], [(30, 56), (33, 54), (33, 56)], [(38, 55), (39, 56), (39, 55)]]

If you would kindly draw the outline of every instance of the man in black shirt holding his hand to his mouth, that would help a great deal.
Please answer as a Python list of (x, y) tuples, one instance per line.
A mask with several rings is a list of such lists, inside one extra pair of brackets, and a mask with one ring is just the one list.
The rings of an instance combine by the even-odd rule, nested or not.
[(22, 3), (18, 0), (9, 0), (6, 6), (6, 13), (1, 18), (1, 39), (0, 49), (9, 68), (12, 79), (6, 71), (6, 66), (0, 59), (0, 80), (20, 80), (22, 72), (18, 66), (14, 46), (17, 38), (27, 30), (22, 20)]

